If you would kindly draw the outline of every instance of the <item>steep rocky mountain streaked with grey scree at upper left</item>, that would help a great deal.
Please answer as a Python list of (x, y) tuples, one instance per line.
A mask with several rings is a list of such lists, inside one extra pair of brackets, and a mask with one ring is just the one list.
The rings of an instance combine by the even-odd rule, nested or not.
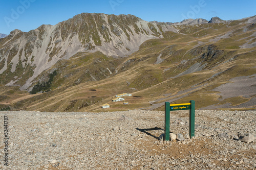
[[(160, 29), (155, 23), (133, 15), (82, 13), (55, 26), (42, 25), (28, 33), (14, 30), (0, 41), (0, 74), (15, 73), (18, 83), (10, 84), (28, 89), (34, 78), (57, 61), (94, 52), (111, 58), (125, 57), (138, 51), (144, 41), (159, 38)], [(164, 29), (171, 30), (172, 26), (166, 25)], [(29, 76), (24, 78), (19, 67)]]

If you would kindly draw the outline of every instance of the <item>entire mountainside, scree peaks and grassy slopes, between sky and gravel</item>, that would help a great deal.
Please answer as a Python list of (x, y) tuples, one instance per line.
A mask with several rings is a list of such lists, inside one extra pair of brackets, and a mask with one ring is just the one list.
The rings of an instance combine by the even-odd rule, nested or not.
[[(161, 110), (165, 101), (196, 100), (198, 109), (256, 109), (255, 21), (82, 13), (14, 30), (0, 39), (0, 108)], [(122, 92), (133, 93), (129, 105), (110, 102)]]

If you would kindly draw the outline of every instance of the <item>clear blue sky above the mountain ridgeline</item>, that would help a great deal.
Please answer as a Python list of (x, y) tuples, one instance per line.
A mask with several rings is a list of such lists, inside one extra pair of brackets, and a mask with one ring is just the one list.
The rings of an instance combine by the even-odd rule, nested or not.
[(180, 22), (218, 16), (241, 19), (256, 15), (256, 1), (238, 0), (11, 0), (0, 1), (0, 33), (24, 32), (42, 24), (55, 25), (82, 13), (133, 14), (146, 21)]

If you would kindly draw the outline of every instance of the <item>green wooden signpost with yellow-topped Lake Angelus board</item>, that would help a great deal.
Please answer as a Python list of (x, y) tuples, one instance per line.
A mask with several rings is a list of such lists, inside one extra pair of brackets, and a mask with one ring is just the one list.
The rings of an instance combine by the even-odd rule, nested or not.
[(195, 136), (195, 101), (189, 101), (190, 103), (173, 104), (165, 102), (164, 113), (164, 140), (170, 139), (170, 111), (173, 110), (189, 110), (189, 136), (192, 138)]

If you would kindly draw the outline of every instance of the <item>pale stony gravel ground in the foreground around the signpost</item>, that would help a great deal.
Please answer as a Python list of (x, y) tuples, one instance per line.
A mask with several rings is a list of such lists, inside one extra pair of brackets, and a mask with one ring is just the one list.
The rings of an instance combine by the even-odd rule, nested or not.
[[(256, 111), (196, 110), (196, 137), (181, 141), (158, 139), (164, 111), (0, 115), (0, 169), (256, 168)], [(170, 112), (171, 132), (188, 129), (187, 110)]]

